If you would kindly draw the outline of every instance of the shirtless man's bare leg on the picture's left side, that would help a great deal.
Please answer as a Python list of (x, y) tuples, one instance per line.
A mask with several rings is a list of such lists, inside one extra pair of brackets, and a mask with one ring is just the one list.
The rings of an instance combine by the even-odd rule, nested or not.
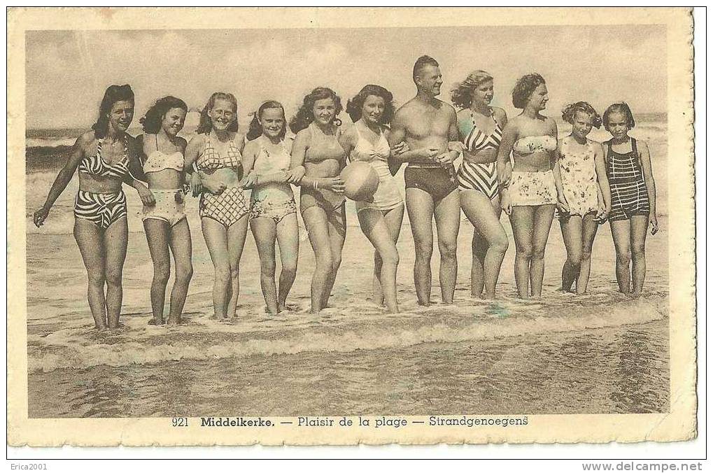
[(434, 200), (417, 188), (406, 188), (406, 211), (414, 234), (414, 284), (419, 305), (431, 304), (431, 254), (434, 252)]

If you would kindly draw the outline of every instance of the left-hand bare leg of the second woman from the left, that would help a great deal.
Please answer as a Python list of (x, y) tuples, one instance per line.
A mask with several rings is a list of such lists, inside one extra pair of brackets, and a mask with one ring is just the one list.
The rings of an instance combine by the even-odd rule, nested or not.
[(163, 305), (166, 295), (166, 284), (171, 273), (170, 255), (168, 254), (168, 240), (170, 230), (168, 223), (155, 218), (143, 221), (146, 232), (148, 251), (153, 260), (153, 280), (151, 280), (151, 311), (153, 318), (150, 325), (163, 324)]

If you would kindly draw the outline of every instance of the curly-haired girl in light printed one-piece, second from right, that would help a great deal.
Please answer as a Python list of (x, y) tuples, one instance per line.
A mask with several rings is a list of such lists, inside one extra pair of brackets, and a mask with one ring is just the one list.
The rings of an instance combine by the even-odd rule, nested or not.
[(599, 226), (597, 220), (606, 219), (611, 205), (602, 145), (587, 138), (593, 126), (600, 127), (602, 119), (587, 102), (566, 106), (562, 118), (572, 125), (572, 133), (560, 141), (558, 148), (557, 166), (564, 197), (558, 217), (567, 248), (561, 289), (571, 290), (576, 280), (577, 294), (584, 294)]

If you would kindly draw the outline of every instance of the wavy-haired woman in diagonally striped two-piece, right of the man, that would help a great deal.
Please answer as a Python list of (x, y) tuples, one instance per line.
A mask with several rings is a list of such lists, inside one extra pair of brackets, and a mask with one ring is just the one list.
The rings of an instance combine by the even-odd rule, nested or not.
[(508, 117), (502, 108), (490, 105), (493, 77), (473, 71), (451, 91), (451, 101), (459, 108), (463, 163), (458, 169), (461, 208), (473, 224), (473, 264), (471, 295), (492, 299), (508, 250), (508, 235), (500, 223), (500, 192), (496, 158)]

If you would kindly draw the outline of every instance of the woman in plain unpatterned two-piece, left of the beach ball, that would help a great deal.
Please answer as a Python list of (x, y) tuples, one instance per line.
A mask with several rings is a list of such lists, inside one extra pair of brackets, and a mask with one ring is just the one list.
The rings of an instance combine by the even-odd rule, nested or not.
[(344, 206), (344, 148), (337, 118), (342, 103), (331, 88), (318, 87), (304, 97), (302, 106), (289, 122), (296, 133), (292, 146), (289, 182), (300, 186), (299, 210), (314, 250), (312, 313), (327, 307), (342, 263), (347, 236)]

